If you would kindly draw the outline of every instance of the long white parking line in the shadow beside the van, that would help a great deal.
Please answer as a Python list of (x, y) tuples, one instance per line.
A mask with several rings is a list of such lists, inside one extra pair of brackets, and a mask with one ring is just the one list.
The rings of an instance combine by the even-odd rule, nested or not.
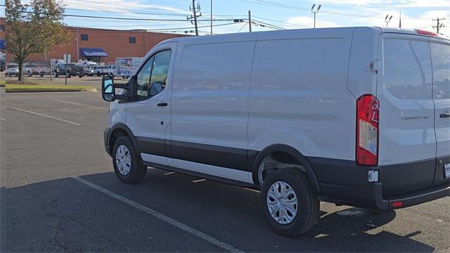
[(190, 226), (185, 225), (184, 223), (181, 223), (179, 221), (176, 221), (168, 216), (165, 216), (164, 214), (160, 214), (159, 212), (156, 212), (153, 209), (150, 209), (146, 206), (143, 206), (139, 203), (136, 203), (132, 200), (127, 199), (126, 197), (122, 197), (121, 195), (118, 195), (116, 193), (113, 193), (110, 190), (106, 190), (105, 188), (101, 186), (97, 186), (95, 183), (91, 183), (90, 181), (87, 181), (86, 179), (82, 179), (79, 176), (72, 176), (72, 179), (75, 179), (79, 181), (79, 183), (83, 183), (86, 186), (89, 186), (90, 188), (93, 188), (95, 190), (98, 190), (101, 193), (105, 193), (106, 195), (115, 198), (116, 200), (120, 200), (124, 202), (125, 204), (131, 205), (131, 207), (136, 207), (137, 209), (141, 209), (143, 212), (146, 212), (148, 214), (151, 214), (155, 216), (155, 218), (160, 219), (161, 221), (165, 221), (166, 223), (169, 223), (172, 226), (175, 226), (176, 228), (181, 229), (182, 231), (186, 231), (187, 233), (190, 233), (191, 235), (195, 235), (198, 238), (201, 238), (207, 242), (211, 242), (213, 245), (216, 245), (217, 247), (221, 247), (222, 249), (226, 249), (229, 252), (238, 252), (243, 253), (242, 250), (236, 249), (235, 247), (226, 244), (226, 242), (222, 242), (216, 238), (213, 238), (210, 235), (207, 235), (203, 232), (200, 232), (196, 230), (195, 228), (191, 228)]

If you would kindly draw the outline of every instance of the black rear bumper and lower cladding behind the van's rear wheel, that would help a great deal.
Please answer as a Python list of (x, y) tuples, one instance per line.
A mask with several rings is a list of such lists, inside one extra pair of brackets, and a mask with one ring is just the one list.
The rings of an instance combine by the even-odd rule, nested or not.
[[(442, 158), (449, 160), (450, 156)], [(443, 174), (443, 167), (437, 167), (435, 159), (377, 167), (361, 166), (348, 160), (307, 159), (319, 181), (321, 200), (326, 202), (387, 210), (450, 196), (450, 179), (435, 176)], [(407, 168), (409, 173), (405, 172)], [(378, 182), (368, 182), (369, 170), (378, 171)], [(432, 178), (424, 176), (423, 171), (432, 173)]]

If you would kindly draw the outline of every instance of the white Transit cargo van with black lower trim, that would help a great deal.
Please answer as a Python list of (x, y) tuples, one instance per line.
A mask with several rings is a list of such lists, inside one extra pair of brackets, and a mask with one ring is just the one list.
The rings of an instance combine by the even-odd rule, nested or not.
[(150, 166), (259, 188), (283, 235), (314, 226), (319, 200), (387, 210), (450, 193), (450, 40), (430, 32), (169, 39), (102, 95), (121, 181)]

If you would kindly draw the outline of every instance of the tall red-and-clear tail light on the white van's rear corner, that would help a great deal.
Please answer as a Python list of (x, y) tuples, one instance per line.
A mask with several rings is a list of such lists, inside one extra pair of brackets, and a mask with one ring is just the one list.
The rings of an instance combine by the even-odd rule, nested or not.
[(378, 164), (378, 120), (380, 104), (373, 95), (363, 95), (356, 101), (356, 162)]

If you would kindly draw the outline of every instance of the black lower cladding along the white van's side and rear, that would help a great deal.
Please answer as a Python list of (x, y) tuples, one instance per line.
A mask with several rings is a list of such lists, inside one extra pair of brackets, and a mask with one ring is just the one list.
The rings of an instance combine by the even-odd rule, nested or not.
[[(104, 132), (105, 149), (108, 154), (111, 145), (110, 131), (105, 129)], [(131, 131), (128, 129), (127, 132)], [(138, 153), (241, 171), (252, 171), (252, 164), (257, 162), (260, 153), (255, 150), (218, 145), (130, 137)], [(327, 202), (373, 209), (392, 209), (394, 200), (402, 201), (401, 207), (407, 207), (450, 194), (450, 179), (445, 178), (443, 166), (444, 163), (450, 162), (450, 155), (438, 159), (377, 167), (360, 166), (349, 160), (321, 157), (304, 157), (304, 159), (302, 162), (309, 164), (314, 179), (319, 183), (319, 197)], [(368, 182), (369, 170), (378, 171), (378, 182)]]

